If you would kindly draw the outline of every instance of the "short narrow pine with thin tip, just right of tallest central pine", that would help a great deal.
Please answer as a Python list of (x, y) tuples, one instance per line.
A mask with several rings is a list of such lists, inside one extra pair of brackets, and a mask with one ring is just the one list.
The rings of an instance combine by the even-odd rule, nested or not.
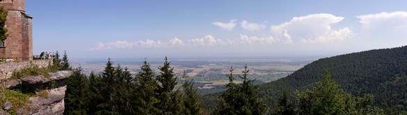
[(184, 106), (185, 111), (184, 114), (203, 114), (203, 105), (200, 102), (199, 94), (195, 88), (193, 88), (193, 80), (186, 80), (186, 71), (184, 70), (183, 73), (184, 84), (182, 87), (184, 88)]

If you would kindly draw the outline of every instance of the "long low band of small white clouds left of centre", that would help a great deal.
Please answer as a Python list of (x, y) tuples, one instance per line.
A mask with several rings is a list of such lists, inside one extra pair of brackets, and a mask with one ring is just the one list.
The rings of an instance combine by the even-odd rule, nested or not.
[(145, 41), (137, 42), (125, 42), (125, 41), (116, 41), (116, 42), (99, 42), (95, 47), (89, 48), (89, 50), (101, 50), (101, 49), (111, 49), (111, 48), (133, 48), (133, 47), (145, 47), (145, 48), (161, 48), (161, 47), (178, 47), (186, 46), (181, 39), (174, 37), (173, 39), (168, 40), (168, 42), (161, 42), (160, 40), (154, 41), (147, 39)]

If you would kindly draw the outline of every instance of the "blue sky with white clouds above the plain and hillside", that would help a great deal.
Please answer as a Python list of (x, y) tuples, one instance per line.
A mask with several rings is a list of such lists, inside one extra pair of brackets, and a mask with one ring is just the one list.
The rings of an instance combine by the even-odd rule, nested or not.
[(33, 53), (324, 57), (407, 45), (407, 1), (27, 0)]

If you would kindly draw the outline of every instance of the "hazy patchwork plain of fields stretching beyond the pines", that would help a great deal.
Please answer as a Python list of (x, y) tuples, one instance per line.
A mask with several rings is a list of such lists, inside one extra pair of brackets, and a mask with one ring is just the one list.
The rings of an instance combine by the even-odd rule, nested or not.
[[(174, 72), (179, 77), (179, 82), (182, 82), (182, 72), (185, 70), (188, 74), (187, 79), (193, 79), (195, 86), (201, 91), (201, 94), (210, 94), (216, 91), (223, 91), (224, 85), (228, 84), (228, 75), (230, 68), (234, 70), (232, 74), (235, 77), (234, 82), (240, 83), (241, 71), (247, 65), (249, 69), (248, 76), (250, 79), (255, 79), (256, 84), (271, 82), (279, 78), (288, 76), (290, 73), (301, 69), (305, 64), (312, 60), (168, 60), (171, 67), (174, 67)], [(127, 67), (134, 75), (140, 71), (143, 60), (112, 60), (113, 65), (120, 64), (121, 67)], [(83, 69), (84, 73), (100, 73), (103, 71), (106, 60), (99, 61), (78, 61), (73, 60), (72, 67)], [(158, 68), (163, 64), (161, 60), (149, 61), (151, 68), (157, 73)]]

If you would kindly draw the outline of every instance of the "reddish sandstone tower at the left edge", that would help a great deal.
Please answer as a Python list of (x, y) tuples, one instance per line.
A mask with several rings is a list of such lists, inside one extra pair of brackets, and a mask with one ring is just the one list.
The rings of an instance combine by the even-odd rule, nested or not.
[(0, 0), (8, 10), (8, 38), (0, 46), (0, 59), (33, 60), (33, 24), (25, 12), (24, 0)]

